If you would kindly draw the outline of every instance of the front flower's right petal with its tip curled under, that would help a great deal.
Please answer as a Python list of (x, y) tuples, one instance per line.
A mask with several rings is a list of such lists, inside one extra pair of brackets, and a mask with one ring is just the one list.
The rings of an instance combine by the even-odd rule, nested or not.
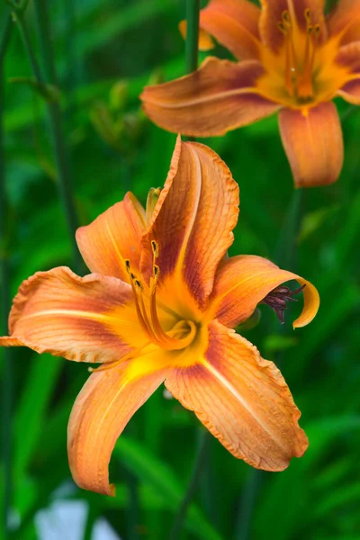
[(270, 293), (281, 284), (296, 279), (305, 284), (304, 306), (300, 317), (293, 322), (293, 328), (306, 326), (319, 310), (319, 293), (310, 282), (300, 275), (281, 270), (274, 263), (255, 255), (230, 257), (220, 265), (211, 294), (213, 317), (230, 328), (247, 320)]

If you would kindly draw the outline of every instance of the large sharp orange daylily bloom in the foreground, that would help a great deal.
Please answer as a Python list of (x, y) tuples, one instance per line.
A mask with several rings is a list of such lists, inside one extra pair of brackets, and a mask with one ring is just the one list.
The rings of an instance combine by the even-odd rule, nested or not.
[(210, 148), (178, 138), (164, 189), (150, 191), (146, 210), (127, 193), (77, 230), (93, 274), (61, 266), (20, 286), (0, 345), (101, 364), (68, 425), (69, 464), (82, 488), (114, 494), (115, 441), (163, 382), (254, 467), (281, 471), (306, 450), (279, 370), (232, 328), (288, 280), (306, 285), (293, 323), (302, 327), (319, 294), (262, 257), (226, 257), (237, 220), (238, 184), (228, 167)]

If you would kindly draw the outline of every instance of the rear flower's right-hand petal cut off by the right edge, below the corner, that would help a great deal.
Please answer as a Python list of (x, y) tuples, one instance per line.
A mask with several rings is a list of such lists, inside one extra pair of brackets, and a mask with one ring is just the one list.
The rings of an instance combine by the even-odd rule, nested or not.
[(348, 80), (338, 95), (348, 103), (360, 104), (360, 41), (349, 43), (338, 51), (336, 61), (348, 70)]

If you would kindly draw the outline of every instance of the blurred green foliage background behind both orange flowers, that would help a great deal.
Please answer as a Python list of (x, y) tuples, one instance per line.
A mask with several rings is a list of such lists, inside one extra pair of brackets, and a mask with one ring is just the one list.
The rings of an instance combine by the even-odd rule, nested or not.
[[(142, 115), (138, 96), (148, 82), (184, 74), (184, 42), (177, 31), (184, 0), (48, 4), (71, 181), (79, 220), (87, 224), (127, 190), (145, 202), (148, 189), (165, 181), (175, 135)], [(2, 2), (3, 34), (9, 11)], [(31, 0), (25, 17), (42, 68)], [(213, 53), (227, 56), (220, 47)], [(10, 265), (12, 296), (37, 270), (72, 266), (46, 104), (31, 85), (12, 81), (31, 76), (14, 25), (0, 103), (8, 204), (1, 247)], [(311, 325), (295, 332), (292, 321), (302, 302), (289, 306), (284, 327), (262, 306), (257, 327), (243, 330), (263, 356), (280, 365), (302, 410), (309, 450), (284, 473), (257, 473), (211, 437), (183, 539), (360, 539), (360, 109), (338, 107), (345, 166), (337, 184), (303, 193), (299, 226), (294, 233), (290, 229), (287, 244), (289, 209), (299, 201), (276, 119), (205, 141), (240, 187), (240, 219), (230, 255), (256, 254), (298, 272), (318, 287), (321, 306)], [(11, 537), (52, 540), (49, 534), (40, 536), (40, 510), (48, 509), (54, 530), (65, 531), (54, 538), (72, 538), (70, 514), (56, 518), (51, 512), (58, 501), (81, 500), (87, 513), (81, 523), (78, 518), (76, 539), (95, 538), (99, 518), (122, 540), (169, 538), (202, 431), (193, 414), (157, 391), (112, 455), (116, 498), (94, 495), (71, 481), (66, 449), (67, 419), (88, 376), (86, 366), (20, 348), (13, 351), (12, 365)], [(0, 478), (3, 501), (2, 491)]]

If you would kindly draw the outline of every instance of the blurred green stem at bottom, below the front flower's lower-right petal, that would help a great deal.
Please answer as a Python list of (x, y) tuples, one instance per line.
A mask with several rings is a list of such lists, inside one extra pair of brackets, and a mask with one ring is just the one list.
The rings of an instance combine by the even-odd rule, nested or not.
[(187, 484), (186, 491), (184, 493), (184, 499), (182, 500), (177, 514), (175, 516), (174, 525), (170, 534), (170, 540), (177, 540), (184, 526), (184, 520), (187, 515), (187, 510), (193, 500), (193, 496), (198, 488), (200, 477), (202, 474), (202, 466), (204, 464), (206, 454), (208, 452), (208, 446), (210, 442), (209, 431), (202, 429), (199, 435), (199, 441), (197, 445), (197, 454), (193, 462), (193, 472), (190, 476), (190, 481)]

